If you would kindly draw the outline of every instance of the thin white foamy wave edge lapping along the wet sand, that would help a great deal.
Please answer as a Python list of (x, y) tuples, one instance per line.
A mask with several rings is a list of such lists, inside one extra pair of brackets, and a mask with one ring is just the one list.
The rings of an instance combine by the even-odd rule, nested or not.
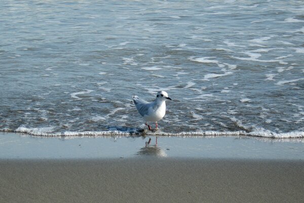
[(274, 132), (271, 130), (258, 128), (252, 131), (182, 131), (182, 132), (164, 132), (161, 129), (157, 131), (148, 131), (144, 128), (126, 128), (110, 129), (104, 131), (55, 131), (54, 127), (25, 127), (20, 126), (15, 130), (2, 128), (2, 132), (20, 132), (32, 136), (41, 137), (141, 137), (141, 136), (163, 136), (163, 137), (259, 137), (272, 139), (302, 139), (304, 131)]

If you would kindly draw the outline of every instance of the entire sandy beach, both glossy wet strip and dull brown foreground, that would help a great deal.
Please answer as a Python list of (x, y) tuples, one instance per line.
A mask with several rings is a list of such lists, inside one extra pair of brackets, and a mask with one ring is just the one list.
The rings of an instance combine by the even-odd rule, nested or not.
[(302, 202), (301, 140), (0, 133), (0, 202)]

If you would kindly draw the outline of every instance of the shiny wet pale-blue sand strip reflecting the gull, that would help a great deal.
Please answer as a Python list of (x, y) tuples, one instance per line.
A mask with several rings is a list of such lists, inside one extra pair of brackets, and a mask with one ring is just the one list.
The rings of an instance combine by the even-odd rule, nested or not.
[[(149, 138), (151, 143), (147, 145)], [(303, 140), (250, 137), (58, 137), (0, 133), (0, 159), (214, 158), (304, 160)]]

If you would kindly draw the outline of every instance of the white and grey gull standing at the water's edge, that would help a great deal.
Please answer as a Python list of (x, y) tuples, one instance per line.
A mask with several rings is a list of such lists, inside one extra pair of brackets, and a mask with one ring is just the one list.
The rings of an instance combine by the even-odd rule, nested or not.
[(132, 98), (138, 113), (145, 119), (145, 125), (148, 126), (149, 130), (151, 130), (151, 126), (147, 122), (155, 122), (157, 129), (157, 122), (166, 114), (166, 100), (172, 100), (165, 91), (159, 91), (156, 99), (151, 103), (138, 98), (137, 95), (134, 95)]

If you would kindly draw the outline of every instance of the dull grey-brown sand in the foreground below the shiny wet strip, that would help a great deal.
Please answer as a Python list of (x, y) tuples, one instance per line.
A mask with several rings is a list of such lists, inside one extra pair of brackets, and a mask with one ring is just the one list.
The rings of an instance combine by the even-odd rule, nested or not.
[(0, 160), (0, 202), (302, 202), (303, 186), (301, 160)]

